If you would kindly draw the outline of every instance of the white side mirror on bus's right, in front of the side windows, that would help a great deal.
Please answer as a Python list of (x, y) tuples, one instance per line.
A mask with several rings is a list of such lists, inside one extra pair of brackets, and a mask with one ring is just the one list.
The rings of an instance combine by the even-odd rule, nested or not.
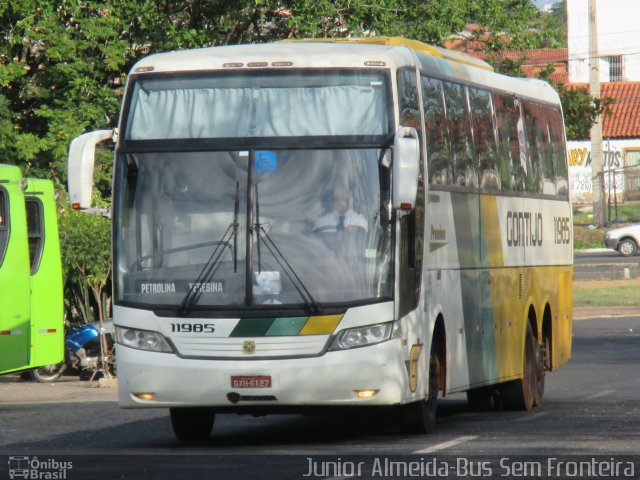
[(400, 127), (393, 143), (393, 207), (413, 210), (420, 174), (420, 142), (412, 127)]

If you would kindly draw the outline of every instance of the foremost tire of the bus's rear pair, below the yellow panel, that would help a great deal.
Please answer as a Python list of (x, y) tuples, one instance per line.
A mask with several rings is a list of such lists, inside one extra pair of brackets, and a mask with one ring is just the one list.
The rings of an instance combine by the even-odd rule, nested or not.
[[(533, 408), (537, 381), (537, 369), (540, 365), (538, 359), (540, 347), (533, 335), (531, 324), (527, 323), (527, 332), (524, 342), (524, 365), (522, 378), (513, 380), (503, 385), (501, 397), (504, 406), (510, 410), (526, 410)], [(538, 351), (538, 353), (536, 353)]]

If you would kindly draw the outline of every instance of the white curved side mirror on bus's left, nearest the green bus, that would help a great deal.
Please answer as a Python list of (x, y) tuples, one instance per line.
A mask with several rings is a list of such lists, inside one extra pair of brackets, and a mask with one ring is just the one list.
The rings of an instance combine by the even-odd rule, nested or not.
[(91, 207), (96, 145), (113, 138), (114, 135), (115, 130), (96, 130), (80, 135), (71, 141), (67, 182), (71, 208), (74, 210), (86, 210)]

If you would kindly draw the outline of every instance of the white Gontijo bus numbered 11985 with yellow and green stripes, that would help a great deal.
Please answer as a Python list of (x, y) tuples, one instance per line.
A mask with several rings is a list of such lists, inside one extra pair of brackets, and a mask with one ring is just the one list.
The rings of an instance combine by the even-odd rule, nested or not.
[(436, 399), (530, 409), (571, 354), (572, 231), (556, 92), (399, 38), (152, 55), (117, 131), (74, 140), (91, 204), (115, 141), (119, 402), (215, 414)]

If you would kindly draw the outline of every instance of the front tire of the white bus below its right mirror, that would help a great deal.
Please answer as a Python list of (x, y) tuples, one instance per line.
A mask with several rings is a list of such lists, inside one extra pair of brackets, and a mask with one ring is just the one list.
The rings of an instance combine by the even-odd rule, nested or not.
[(439, 372), (438, 357), (432, 346), (429, 358), (429, 393), (423, 400), (400, 407), (400, 430), (402, 433), (423, 434), (435, 430)]

